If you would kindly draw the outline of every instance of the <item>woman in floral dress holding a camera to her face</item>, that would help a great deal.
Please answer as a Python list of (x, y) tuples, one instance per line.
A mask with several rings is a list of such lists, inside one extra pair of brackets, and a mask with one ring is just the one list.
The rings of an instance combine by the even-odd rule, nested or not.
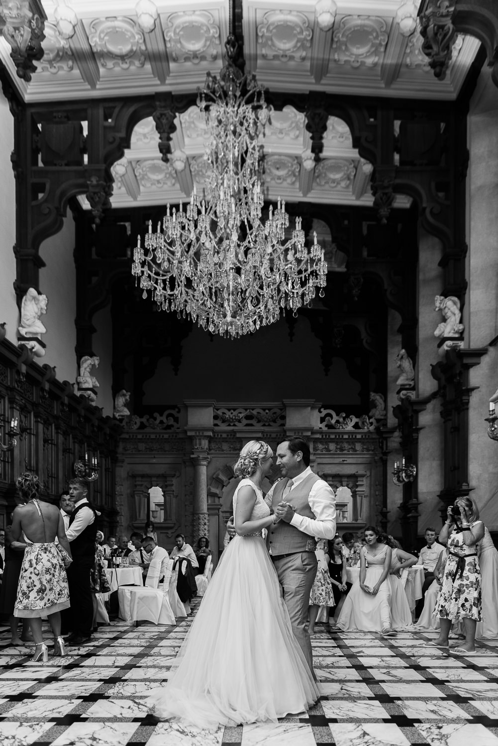
[(484, 536), (484, 524), (476, 520), (477, 509), (469, 497), (459, 498), (448, 508), (439, 541), (447, 545), (448, 559), (434, 615), (440, 618), (438, 639), (429, 643), (449, 648), (448, 636), (453, 622), (463, 620), (465, 642), (452, 653), (468, 655), (475, 650), (476, 624), (482, 620), (481, 571), (476, 544)]

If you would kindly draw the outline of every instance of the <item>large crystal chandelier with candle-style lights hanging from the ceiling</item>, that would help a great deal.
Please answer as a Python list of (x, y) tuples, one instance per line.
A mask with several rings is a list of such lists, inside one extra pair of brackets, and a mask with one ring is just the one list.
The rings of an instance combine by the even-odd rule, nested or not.
[(132, 273), (140, 277), (158, 308), (190, 316), (203, 329), (238, 337), (278, 320), (289, 308), (296, 315), (326, 285), (323, 250), (305, 247), (301, 219), (286, 236), (285, 202), (270, 206), (264, 222), (261, 138), (269, 119), (264, 90), (255, 75), (234, 64), (237, 42), (225, 43), (226, 64), (217, 78), (208, 72), (197, 105), (208, 128), (206, 158), (211, 172), (204, 194), (196, 187), (190, 202), (166, 207), (157, 232), (134, 249)]

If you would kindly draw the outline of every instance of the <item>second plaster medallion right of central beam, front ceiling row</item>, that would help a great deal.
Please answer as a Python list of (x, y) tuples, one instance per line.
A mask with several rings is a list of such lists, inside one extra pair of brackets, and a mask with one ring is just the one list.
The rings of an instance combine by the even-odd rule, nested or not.
[(343, 16), (334, 31), (334, 60), (352, 67), (375, 67), (387, 44), (387, 24), (377, 16)]

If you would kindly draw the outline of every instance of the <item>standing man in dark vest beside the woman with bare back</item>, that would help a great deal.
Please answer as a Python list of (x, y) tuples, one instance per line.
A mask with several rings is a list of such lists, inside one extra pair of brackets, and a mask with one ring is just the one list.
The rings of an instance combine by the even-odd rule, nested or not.
[(87, 491), (84, 480), (76, 477), (69, 482), (69, 495), (75, 508), (66, 531), (72, 554), (72, 564), (67, 570), (72, 633), (66, 637), (67, 645), (84, 645), (85, 642), (90, 642), (92, 636), (90, 571), (95, 562), (97, 523), (96, 511), (87, 500)]

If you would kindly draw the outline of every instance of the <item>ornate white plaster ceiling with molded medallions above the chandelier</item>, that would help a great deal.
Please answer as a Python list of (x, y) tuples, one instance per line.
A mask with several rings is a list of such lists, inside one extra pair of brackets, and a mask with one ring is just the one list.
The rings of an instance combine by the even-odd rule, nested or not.
[[(10, 46), (0, 38), (1, 60), (27, 102), (184, 93), (222, 66), (227, 0), (42, 1), (45, 55), (30, 82), (16, 77)], [(418, 4), (336, 0), (332, 28), (323, 31), (317, 0), (242, 0), (246, 69), (270, 91), (452, 100), (479, 42), (457, 37), (446, 78), (438, 81), (420, 49)], [(175, 125), (169, 163), (161, 161), (152, 119), (137, 125), (131, 148), (112, 169), (113, 206), (175, 202), (189, 198), (194, 183), (202, 188), (208, 169), (203, 118), (191, 107)], [(352, 148), (340, 119), (329, 118), (318, 164), (304, 115), (293, 107), (273, 112), (263, 145), (268, 198), (371, 203), (372, 168)], [(90, 207), (84, 198), (81, 203)], [(396, 198), (397, 206), (408, 204)]]

